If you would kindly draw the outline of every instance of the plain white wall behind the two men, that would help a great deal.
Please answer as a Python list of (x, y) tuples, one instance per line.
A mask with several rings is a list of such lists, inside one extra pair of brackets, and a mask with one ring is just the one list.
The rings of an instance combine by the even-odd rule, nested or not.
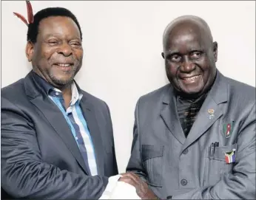
[[(255, 1), (32, 1), (34, 13), (66, 7), (83, 32), (84, 64), (76, 80), (110, 106), (120, 172), (132, 144), (135, 103), (167, 83), (161, 58), (162, 34), (179, 15), (204, 18), (218, 41), (218, 69), (255, 86)], [(1, 87), (24, 77), (25, 1), (1, 1)]]

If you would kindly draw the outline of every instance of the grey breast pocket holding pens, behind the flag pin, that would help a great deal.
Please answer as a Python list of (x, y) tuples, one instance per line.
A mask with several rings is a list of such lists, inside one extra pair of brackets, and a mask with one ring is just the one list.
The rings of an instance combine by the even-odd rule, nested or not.
[(211, 148), (206, 149), (203, 185), (214, 185), (224, 173), (232, 173), (234, 162), (226, 163), (225, 153), (237, 149), (237, 146), (236, 143), (233, 145), (219, 146), (215, 148), (213, 154), (211, 154)]

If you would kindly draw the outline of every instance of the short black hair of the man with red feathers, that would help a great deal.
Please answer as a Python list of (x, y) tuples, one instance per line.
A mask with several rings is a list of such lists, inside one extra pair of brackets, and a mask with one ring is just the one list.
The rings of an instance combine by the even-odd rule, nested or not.
[(80, 32), (81, 40), (82, 40), (81, 27), (78, 23), (77, 18), (70, 10), (67, 10), (64, 7), (47, 7), (43, 10), (38, 11), (38, 13), (34, 15), (33, 23), (28, 25), (27, 41), (30, 41), (33, 44), (36, 43), (40, 21), (44, 18), (51, 17), (51, 16), (65, 16), (65, 17), (72, 18), (73, 21), (75, 21), (75, 24), (78, 26), (78, 30)]

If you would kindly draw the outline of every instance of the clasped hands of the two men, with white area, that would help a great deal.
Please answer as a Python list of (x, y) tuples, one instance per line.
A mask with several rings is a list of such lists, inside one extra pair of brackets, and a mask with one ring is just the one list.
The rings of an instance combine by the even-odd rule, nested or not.
[(149, 186), (132, 172), (111, 176), (100, 199), (158, 199)]

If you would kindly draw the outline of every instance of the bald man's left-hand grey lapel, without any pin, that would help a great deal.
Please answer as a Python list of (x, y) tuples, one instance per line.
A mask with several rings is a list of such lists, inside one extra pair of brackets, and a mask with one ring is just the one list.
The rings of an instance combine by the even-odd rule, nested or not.
[(169, 128), (169, 131), (178, 139), (181, 144), (185, 142), (185, 135), (181, 127), (180, 120), (178, 118), (178, 111), (176, 106), (175, 95), (173, 94), (172, 86), (169, 87), (163, 99), (163, 110), (161, 111), (161, 117), (164, 123)]

